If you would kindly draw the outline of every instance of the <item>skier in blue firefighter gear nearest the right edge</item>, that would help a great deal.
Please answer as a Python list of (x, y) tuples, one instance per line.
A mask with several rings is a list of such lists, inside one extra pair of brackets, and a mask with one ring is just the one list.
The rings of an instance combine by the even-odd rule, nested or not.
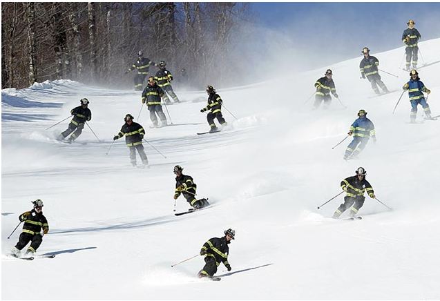
[(408, 95), (411, 101), (411, 114), (410, 114), (410, 122), (414, 124), (416, 122), (417, 116), (417, 105), (420, 104), (425, 112), (425, 119), (435, 120), (431, 117), (430, 106), (426, 102), (425, 96), (423, 92), (431, 93), (431, 90), (425, 87), (423, 82), (419, 78), (419, 72), (417, 70), (411, 70), (410, 72), (410, 81), (403, 85), (403, 90), (408, 90)]

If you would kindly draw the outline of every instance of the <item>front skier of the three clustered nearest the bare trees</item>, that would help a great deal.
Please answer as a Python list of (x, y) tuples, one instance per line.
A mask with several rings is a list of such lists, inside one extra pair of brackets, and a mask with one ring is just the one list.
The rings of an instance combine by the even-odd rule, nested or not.
[(142, 104), (146, 103), (146, 106), (150, 111), (150, 119), (153, 122), (153, 126), (157, 128), (157, 116), (159, 116), (162, 126), (166, 126), (166, 117), (162, 110), (161, 97), (164, 96), (164, 90), (157, 86), (154, 77), (149, 77), (149, 82), (142, 92)]

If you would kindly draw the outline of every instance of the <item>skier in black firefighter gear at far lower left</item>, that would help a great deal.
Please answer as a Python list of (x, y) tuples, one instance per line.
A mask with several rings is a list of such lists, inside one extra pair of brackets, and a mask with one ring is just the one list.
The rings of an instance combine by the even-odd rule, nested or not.
[(19, 242), (12, 248), (10, 255), (13, 257), (21, 257), (21, 249), (23, 249), (28, 242), (30, 246), (26, 250), (25, 256), (32, 257), (32, 255), (37, 251), (43, 237), (41, 235), (41, 228), (43, 233), (47, 234), (49, 232), (49, 224), (46, 217), (43, 215), (43, 201), (35, 200), (31, 202), (34, 204), (34, 208), (31, 211), (26, 211), (19, 216), (20, 222), (24, 222), (23, 231), (20, 234)]

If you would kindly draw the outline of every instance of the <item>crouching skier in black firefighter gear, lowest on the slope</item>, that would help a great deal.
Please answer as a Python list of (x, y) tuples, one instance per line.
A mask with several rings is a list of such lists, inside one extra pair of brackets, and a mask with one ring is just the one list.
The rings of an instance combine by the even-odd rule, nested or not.
[(205, 255), (203, 269), (198, 273), (199, 278), (213, 278), (217, 273), (217, 266), (223, 262), (224, 266), (231, 271), (231, 264), (228, 262), (229, 246), (231, 240), (235, 240), (236, 231), (227, 229), (222, 238), (213, 237), (205, 242), (200, 250), (200, 255)]

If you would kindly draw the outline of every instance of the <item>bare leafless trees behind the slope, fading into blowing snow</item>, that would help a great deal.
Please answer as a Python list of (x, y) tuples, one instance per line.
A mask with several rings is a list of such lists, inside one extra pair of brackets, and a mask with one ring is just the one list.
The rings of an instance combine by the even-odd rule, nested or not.
[(242, 59), (231, 55), (240, 24), (251, 19), (249, 4), (234, 2), (10, 2), (1, 15), (1, 88), (48, 79), (131, 87), (124, 71), (139, 50), (175, 78), (186, 69), (195, 88), (224, 86)]

